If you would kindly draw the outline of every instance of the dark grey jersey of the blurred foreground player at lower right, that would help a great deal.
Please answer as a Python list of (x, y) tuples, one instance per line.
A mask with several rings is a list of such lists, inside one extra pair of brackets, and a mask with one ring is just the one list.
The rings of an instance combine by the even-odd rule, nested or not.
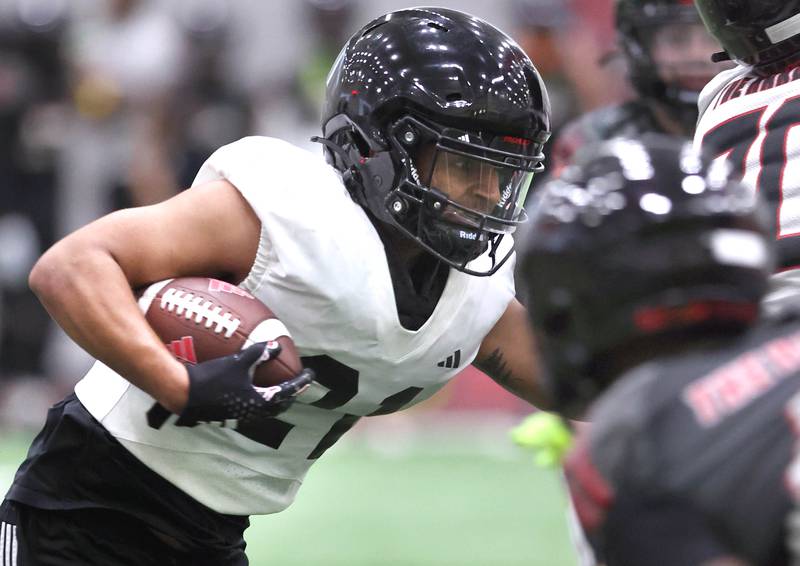
[(800, 322), (724, 344), (640, 366), (593, 406), (566, 473), (608, 566), (790, 563)]

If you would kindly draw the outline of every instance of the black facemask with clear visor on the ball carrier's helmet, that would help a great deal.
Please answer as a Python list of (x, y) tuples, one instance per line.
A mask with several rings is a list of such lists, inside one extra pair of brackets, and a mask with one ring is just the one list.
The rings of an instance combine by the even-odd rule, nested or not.
[[(398, 171), (386, 193), (394, 224), (430, 253), (472, 275), (490, 275), (510, 257), (500, 242), (526, 220), (522, 208), (541, 143), (516, 136), (437, 127), (403, 116), (387, 133)], [(467, 264), (489, 250), (491, 265)]]

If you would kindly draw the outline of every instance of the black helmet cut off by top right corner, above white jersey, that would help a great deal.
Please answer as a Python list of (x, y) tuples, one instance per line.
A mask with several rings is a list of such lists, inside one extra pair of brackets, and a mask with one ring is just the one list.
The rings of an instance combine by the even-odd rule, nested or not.
[(798, 61), (800, 0), (695, 0), (697, 10), (724, 53), (771, 74)]

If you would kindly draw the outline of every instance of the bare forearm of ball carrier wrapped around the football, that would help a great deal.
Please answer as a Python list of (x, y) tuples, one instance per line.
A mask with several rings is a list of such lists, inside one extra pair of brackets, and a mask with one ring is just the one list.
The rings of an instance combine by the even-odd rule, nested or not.
[(67, 238), (42, 256), (29, 282), (53, 319), (82, 348), (168, 409), (183, 406), (186, 370), (144, 320), (110, 253)]

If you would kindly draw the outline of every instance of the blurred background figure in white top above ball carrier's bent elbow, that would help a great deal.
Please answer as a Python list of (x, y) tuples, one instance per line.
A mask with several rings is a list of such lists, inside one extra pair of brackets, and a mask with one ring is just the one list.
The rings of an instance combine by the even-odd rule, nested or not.
[(147, 0), (104, 0), (78, 12), (65, 50), (75, 117), (62, 171), (61, 235), (177, 192), (164, 128), (187, 56), (175, 19)]

